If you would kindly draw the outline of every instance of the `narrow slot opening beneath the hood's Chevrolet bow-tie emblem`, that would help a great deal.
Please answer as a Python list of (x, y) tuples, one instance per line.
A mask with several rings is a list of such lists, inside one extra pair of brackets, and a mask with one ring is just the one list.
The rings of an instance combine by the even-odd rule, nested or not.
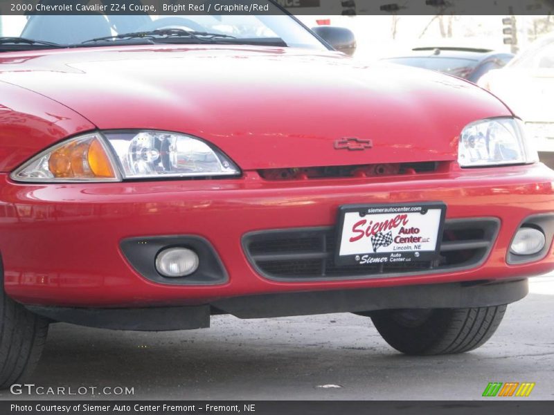
[(289, 169), (262, 169), (258, 173), (265, 180), (307, 180), (312, 178), (348, 178), (397, 176), (437, 172), (447, 163), (426, 161), (421, 163), (380, 163), (327, 167), (296, 167)]

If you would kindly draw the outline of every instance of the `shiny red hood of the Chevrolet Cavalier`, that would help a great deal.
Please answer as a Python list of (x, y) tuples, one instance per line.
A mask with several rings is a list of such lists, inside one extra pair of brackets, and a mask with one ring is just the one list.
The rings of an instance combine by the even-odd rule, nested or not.
[[(10, 53), (0, 55), (0, 80), (60, 102), (99, 129), (204, 138), (242, 169), (454, 160), (466, 124), (510, 115), (454, 77), (296, 48)], [(336, 149), (341, 138), (371, 140), (373, 148)]]

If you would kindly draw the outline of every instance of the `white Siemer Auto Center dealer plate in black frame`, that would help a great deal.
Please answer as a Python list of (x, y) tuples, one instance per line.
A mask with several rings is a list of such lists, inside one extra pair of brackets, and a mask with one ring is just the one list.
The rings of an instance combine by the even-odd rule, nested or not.
[(430, 261), (438, 257), (444, 203), (339, 208), (337, 265)]

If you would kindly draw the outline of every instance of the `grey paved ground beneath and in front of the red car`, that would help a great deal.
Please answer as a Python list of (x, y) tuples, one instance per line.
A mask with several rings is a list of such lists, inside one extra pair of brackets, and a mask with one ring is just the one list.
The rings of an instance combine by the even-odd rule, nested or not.
[(55, 324), (32, 381), (202, 400), (477, 399), (488, 382), (512, 381), (536, 382), (530, 398), (554, 399), (554, 275), (530, 287), (490, 342), (458, 356), (402, 356), (369, 319), (351, 314), (217, 316), (211, 329), (170, 333)]

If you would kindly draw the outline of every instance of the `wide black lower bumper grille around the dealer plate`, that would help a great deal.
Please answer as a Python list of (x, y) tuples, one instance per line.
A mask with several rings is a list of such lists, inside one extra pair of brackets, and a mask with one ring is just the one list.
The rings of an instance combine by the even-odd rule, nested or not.
[(362, 279), (438, 273), (481, 265), (497, 237), (494, 218), (445, 221), (440, 257), (434, 261), (339, 266), (334, 228), (268, 230), (244, 235), (244, 251), (260, 275), (280, 281)]

